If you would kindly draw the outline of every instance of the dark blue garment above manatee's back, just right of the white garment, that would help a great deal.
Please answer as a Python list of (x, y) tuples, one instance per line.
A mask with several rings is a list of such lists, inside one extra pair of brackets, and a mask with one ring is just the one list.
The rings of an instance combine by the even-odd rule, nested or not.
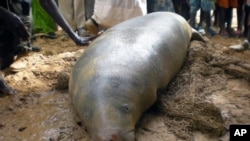
[(157, 11), (175, 12), (172, 0), (147, 0), (148, 13)]

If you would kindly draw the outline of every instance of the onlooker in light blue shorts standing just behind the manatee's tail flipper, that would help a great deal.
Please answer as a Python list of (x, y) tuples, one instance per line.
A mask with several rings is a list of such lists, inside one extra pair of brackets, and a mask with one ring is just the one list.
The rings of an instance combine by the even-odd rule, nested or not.
[[(205, 33), (208, 36), (214, 36), (216, 31), (211, 26), (211, 10), (214, 9), (214, 0), (190, 0), (190, 25), (198, 29), (196, 26), (196, 15), (197, 11), (200, 9), (203, 12), (206, 28)], [(203, 18), (203, 16), (201, 17)]]

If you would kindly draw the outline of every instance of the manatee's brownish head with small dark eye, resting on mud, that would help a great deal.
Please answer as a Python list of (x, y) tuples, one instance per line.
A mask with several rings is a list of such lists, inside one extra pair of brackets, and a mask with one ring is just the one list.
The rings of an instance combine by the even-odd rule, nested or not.
[(92, 141), (133, 141), (135, 124), (140, 117), (134, 105), (117, 97), (92, 101), (81, 117)]

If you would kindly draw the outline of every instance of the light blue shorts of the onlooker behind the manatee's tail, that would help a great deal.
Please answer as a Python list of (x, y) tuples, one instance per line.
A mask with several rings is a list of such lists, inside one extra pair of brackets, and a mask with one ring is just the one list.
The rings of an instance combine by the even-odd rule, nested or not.
[(189, 0), (190, 12), (196, 13), (200, 8), (209, 12), (214, 9), (214, 0)]

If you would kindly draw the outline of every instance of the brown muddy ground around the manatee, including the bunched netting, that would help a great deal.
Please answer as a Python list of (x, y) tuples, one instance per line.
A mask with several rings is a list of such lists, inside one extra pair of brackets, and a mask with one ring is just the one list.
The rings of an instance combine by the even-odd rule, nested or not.
[[(71, 68), (87, 47), (57, 35), (37, 38), (42, 51), (4, 71), (18, 94), (0, 97), (1, 141), (89, 140), (67, 90)], [(228, 141), (230, 124), (250, 124), (250, 50), (228, 48), (241, 40), (192, 42), (181, 71), (138, 123), (138, 141)]]

